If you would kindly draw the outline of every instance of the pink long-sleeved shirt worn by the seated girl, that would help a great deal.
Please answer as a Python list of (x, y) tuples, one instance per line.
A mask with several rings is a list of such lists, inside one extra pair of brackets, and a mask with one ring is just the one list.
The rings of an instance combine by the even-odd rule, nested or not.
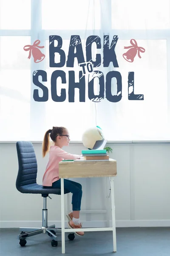
[(58, 146), (51, 146), (49, 151), (49, 159), (45, 173), (42, 178), (42, 186), (52, 186), (54, 181), (59, 180), (59, 162), (66, 160), (76, 160), (80, 155), (69, 154)]

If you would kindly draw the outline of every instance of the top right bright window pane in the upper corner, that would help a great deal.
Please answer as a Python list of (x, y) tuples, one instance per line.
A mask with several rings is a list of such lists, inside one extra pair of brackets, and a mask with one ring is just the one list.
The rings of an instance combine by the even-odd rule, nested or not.
[(113, 29), (170, 29), (169, 0), (112, 0), (111, 8)]

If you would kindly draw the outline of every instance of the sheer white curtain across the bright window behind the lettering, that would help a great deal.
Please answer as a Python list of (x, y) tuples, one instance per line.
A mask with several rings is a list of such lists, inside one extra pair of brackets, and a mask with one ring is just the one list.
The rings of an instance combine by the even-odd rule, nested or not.
[[(8, 8), (10, 6), (10, 9)], [(20, 6), (18, 8), (17, 6)], [(85, 102), (79, 102), (79, 89), (75, 89), (75, 102), (68, 102), (68, 71), (75, 71), (79, 82), (77, 59), (74, 68), (49, 67), (49, 35), (62, 37), (66, 59), (71, 35), (79, 35), (85, 54), (86, 39), (90, 35), (101, 38), (101, 49), (92, 45), (92, 57), (101, 54), (102, 62), (94, 70), (102, 71), (104, 81), (110, 71), (122, 77), (122, 90), (117, 91), (116, 79), (111, 80), (112, 95), (122, 93), (119, 102), (104, 98), (100, 102), (88, 99), (88, 74)], [(118, 36), (115, 52), (119, 67), (111, 62), (103, 67), (103, 38)], [(28, 59), (23, 47), (37, 39), (45, 54), (44, 61), (34, 63)], [(123, 58), (136, 40), (140, 52), (133, 62)], [(59, 56), (55, 56), (59, 62)], [(57, 94), (66, 89), (66, 100), (51, 99), (51, 74), (64, 70), (66, 84), (57, 79)], [(48, 101), (35, 102), (33, 84), (35, 70), (47, 72)], [(128, 74), (134, 72), (134, 94), (144, 100), (130, 100)], [(94, 79), (94, 92), (99, 94), (98, 79)], [(66, 126), (71, 140), (81, 140), (82, 132), (99, 125), (105, 138), (111, 141), (170, 140), (170, 0), (0, 0), (0, 140), (41, 141), (46, 130), (53, 125)], [(42, 90), (39, 88), (39, 96)]]

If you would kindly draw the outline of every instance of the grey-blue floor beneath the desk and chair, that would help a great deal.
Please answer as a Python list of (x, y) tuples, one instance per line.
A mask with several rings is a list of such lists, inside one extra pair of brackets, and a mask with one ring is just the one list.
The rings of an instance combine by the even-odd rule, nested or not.
[[(32, 236), (20, 247), (18, 229), (0, 229), (1, 256), (56, 256), (61, 253), (61, 234), (58, 246), (51, 246), (47, 235)], [(65, 234), (65, 255), (101, 256), (170, 256), (170, 227), (117, 228), (117, 253), (113, 252), (112, 232), (86, 232), (70, 241)]]

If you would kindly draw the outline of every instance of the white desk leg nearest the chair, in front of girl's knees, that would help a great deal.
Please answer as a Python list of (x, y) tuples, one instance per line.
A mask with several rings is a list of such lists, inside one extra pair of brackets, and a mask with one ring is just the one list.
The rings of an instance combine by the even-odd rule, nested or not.
[(64, 178), (61, 178), (61, 242), (62, 253), (65, 253), (65, 215), (64, 215)]

